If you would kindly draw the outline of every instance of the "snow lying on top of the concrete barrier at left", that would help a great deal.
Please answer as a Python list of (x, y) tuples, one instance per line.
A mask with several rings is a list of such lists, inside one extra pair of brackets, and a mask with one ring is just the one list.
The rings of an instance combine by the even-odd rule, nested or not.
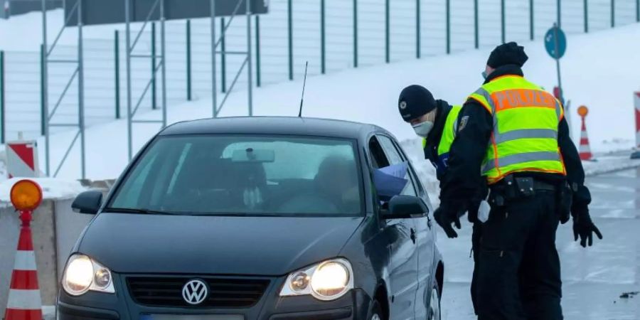
[[(11, 187), (21, 179), (22, 178), (11, 178), (0, 182), (0, 203), (11, 202)], [(75, 180), (58, 178), (34, 178), (32, 180), (41, 186), (44, 199), (73, 198), (77, 196), (78, 193), (86, 190), (85, 187), (80, 185), (79, 181)]]

